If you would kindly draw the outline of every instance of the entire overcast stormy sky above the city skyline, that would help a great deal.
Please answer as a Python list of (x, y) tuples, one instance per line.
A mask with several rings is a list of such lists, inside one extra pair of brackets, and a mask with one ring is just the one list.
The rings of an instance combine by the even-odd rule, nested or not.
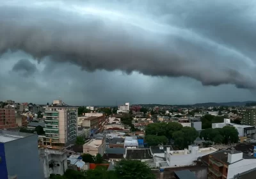
[(0, 1), (0, 100), (255, 100), (256, 2)]

